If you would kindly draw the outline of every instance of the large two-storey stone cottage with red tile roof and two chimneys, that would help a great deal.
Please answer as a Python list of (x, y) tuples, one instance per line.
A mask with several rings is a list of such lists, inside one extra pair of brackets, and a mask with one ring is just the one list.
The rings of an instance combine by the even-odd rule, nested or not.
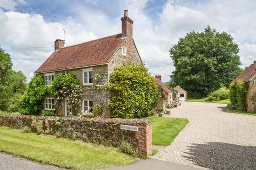
[[(46, 86), (60, 73), (73, 74), (83, 86), (83, 103), (79, 112), (89, 111), (95, 104), (103, 105), (103, 117), (109, 117), (110, 111), (107, 107), (110, 94), (107, 91), (99, 91), (96, 85), (104, 84), (110, 79), (110, 74), (115, 67), (122, 66), (127, 62), (142, 63), (138, 49), (132, 37), (133, 20), (128, 17), (128, 11), (124, 11), (122, 20), (122, 33), (104, 37), (82, 44), (65, 47), (64, 40), (55, 40), (55, 51), (35, 71), (36, 75), (42, 75)], [(94, 79), (95, 76), (101, 79)], [(44, 109), (53, 109), (55, 97), (46, 96)], [(69, 99), (62, 101), (59, 116), (69, 116)]]

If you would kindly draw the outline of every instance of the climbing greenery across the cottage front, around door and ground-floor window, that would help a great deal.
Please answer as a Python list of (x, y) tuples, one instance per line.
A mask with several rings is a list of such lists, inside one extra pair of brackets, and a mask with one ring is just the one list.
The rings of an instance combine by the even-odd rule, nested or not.
[(80, 107), (83, 99), (82, 86), (79, 80), (72, 74), (59, 74), (52, 81), (52, 86), (45, 86), (43, 76), (35, 76), (29, 83), (26, 94), (19, 102), (19, 111), (23, 115), (38, 115), (43, 110), (45, 95), (56, 97), (55, 112), (62, 107), (64, 98), (69, 98), (70, 106), (74, 114)]

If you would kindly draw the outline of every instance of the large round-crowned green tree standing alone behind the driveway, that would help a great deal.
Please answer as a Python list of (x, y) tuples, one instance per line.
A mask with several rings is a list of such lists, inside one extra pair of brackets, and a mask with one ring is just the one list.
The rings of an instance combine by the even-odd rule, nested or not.
[(180, 85), (193, 97), (204, 97), (226, 87), (241, 73), (239, 48), (226, 32), (207, 26), (204, 32), (190, 32), (170, 48), (176, 68), (171, 82)]

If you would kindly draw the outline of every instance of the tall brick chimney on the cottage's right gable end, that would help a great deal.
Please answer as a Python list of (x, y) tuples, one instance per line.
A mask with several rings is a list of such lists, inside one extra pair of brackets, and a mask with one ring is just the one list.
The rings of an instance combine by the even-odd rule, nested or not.
[(128, 10), (124, 10), (122, 20), (122, 37), (132, 38), (133, 20), (128, 17)]

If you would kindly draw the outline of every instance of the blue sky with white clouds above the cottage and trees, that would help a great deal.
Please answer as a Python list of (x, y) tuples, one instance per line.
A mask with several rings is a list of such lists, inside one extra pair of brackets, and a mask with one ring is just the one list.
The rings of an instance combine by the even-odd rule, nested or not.
[(53, 52), (54, 40), (64, 38), (63, 28), (65, 46), (117, 34), (124, 9), (134, 20), (133, 38), (142, 60), (165, 82), (174, 69), (170, 47), (187, 32), (201, 32), (207, 25), (233, 36), (242, 68), (256, 60), (253, 0), (0, 0), (0, 45), (11, 55), (13, 69), (30, 81)]

